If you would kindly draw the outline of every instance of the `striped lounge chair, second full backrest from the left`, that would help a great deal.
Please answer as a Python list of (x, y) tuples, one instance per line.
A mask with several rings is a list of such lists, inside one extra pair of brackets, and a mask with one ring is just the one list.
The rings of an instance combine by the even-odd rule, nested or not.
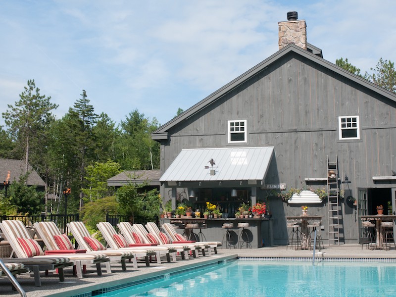
[[(88, 252), (86, 249), (75, 249), (66, 234), (61, 234), (58, 227), (54, 222), (36, 222), (34, 223), (34, 227), (36, 228), (36, 232), (41, 239), (43, 239), (44, 244), (47, 247), (47, 254), (60, 254), (60, 253), (72, 253), (75, 254), (74, 257), (80, 258), (81, 265), (90, 265), (93, 263), (92, 259), (90, 259), (89, 255), (96, 256), (98, 252)], [(105, 254), (110, 261), (114, 260), (107, 253), (99, 252), (101, 254)], [(83, 257), (88, 257), (88, 261), (84, 261)], [(132, 253), (127, 253), (125, 255), (116, 254), (115, 260), (121, 262), (121, 267), (123, 271), (126, 271), (126, 260), (132, 259), (134, 256)], [(106, 263), (107, 271), (111, 271), (110, 262)]]

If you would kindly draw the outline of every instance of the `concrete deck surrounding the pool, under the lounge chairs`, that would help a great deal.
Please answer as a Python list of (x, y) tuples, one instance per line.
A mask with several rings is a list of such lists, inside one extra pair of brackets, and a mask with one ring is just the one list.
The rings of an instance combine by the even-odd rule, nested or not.
[[(396, 250), (370, 250), (361, 245), (340, 245), (340, 246), (326, 246), (321, 250), (323, 253), (316, 252), (315, 257), (326, 257), (326, 258), (389, 258), (396, 259)], [(151, 263), (150, 267), (143, 266), (143, 263), (139, 264), (139, 268), (134, 269), (132, 264), (128, 264), (128, 270), (123, 272), (121, 265), (116, 263), (112, 264), (113, 273), (107, 274), (103, 272), (102, 276), (95, 276), (94, 269), (89, 269), (89, 275), (84, 279), (77, 279), (74, 277), (66, 277), (65, 282), (61, 283), (57, 278), (42, 278), (43, 285), (41, 287), (34, 286), (34, 279), (29, 275), (18, 276), (17, 279), (25, 290), (28, 297), (44, 297), (44, 296), (72, 296), (81, 294), (88, 291), (94, 291), (98, 288), (105, 288), (111, 285), (106, 283), (123, 283), (133, 281), (130, 278), (145, 278), (150, 277), (158, 273), (169, 273), (174, 270), (181, 268), (188, 268), (190, 266), (196, 266), (207, 262), (218, 261), (230, 257), (309, 257), (312, 258), (312, 250), (291, 250), (286, 249), (286, 246), (280, 247), (262, 247), (254, 249), (218, 249), (217, 254), (211, 256), (199, 257), (198, 259), (190, 258), (189, 260), (178, 260), (176, 262), (163, 262), (162, 264)], [(104, 270), (103, 270), (104, 271)], [(130, 279), (126, 281), (127, 279)], [(77, 290), (77, 291), (75, 291)], [(74, 291), (67, 294), (67, 292)], [(6, 277), (0, 278), (0, 296), (1, 297), (17, 297), (20, 296), (17, 292), (11, 291), (11, 285)]]

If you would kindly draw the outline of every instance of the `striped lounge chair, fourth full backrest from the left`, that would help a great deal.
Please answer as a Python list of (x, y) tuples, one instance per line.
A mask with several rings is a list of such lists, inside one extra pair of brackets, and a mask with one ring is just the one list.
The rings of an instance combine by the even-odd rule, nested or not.
[(174, 259), (176, 258), (176, 250), (173, 247), (159, 247), (154, 244), (144, 244), (136, 242), (129, 243), (121, 234), (117, 234), (115, 232), (113, 226), (109, 222), (99, 222), (96, 226), (98, 227), (100, 233), (103, 235), (103, 238), (106, 241), (107, 245), (112, 249), (135, 251), (137, 249), (148, 248), (154, 250), (158, 264), (161, 264), (161, 255), (166, 256), (168, 262), (170, 262), (170, 253), (174, 255)]

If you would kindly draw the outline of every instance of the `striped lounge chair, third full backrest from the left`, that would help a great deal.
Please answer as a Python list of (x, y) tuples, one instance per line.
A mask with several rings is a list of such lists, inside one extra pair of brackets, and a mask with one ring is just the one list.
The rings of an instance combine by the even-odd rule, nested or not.
[(131, 255), (133, 255), (132, 263), (134, 268), (138, 267), (137, 258), (144, 257), (146, 261), (146, 266), (149, 266), (149, 256), (155, 255), (152, 250), (137, 250), (132, 252), (116, 249), (106, 249), (106, 247), (104, 247), (98, 240), (91, 236), (83, 222), (70, 222), (67, 224), (67, 226), (69, 227), (69, 230), (73, 234), (73, 237), (80, 248), (86, 249), (90, 252), (104, 253), (113, 261), (119, 261), (122, 257), (130, 257)]

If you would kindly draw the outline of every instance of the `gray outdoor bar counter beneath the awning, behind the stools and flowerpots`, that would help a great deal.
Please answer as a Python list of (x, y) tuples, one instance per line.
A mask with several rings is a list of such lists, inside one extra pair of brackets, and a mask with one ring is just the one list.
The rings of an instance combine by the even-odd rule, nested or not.
[(227, 229), (221, 226), (224, 223), (234, 223), (234, 228), (230, 229), (232, 234), (238, 236), (242, 232), (242, 228), (238, 228), (238, 223), (246, 222), (249, 223), (249, 228), (246, 228), (249, 234), (249, 240), (252, 248), (258, 247), (272, 247), (273, 246), (273, 235), (272, 235), (272, 219), (269, 217), (258, 217), (258, 218), (167, 218), (160, 219), (160, 224), (172, 223), (176, 226), (180, 226), (180, 229), (176, 229), (178, 233), (184, 233), (184, 226), (188, 223), (198, 223), (203, 225), (202, 229), (194, 229), (194, 233), (202, 232), (207, 241), (219, 241), (221, 242)]

